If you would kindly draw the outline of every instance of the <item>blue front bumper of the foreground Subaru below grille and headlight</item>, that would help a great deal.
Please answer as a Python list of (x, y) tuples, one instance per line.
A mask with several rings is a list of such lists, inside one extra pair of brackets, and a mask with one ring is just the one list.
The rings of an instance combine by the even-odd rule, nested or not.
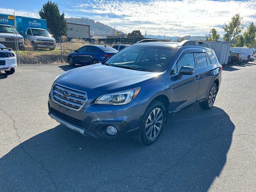
[[(82, 135), (120, 138), (138, 134), (146, 106), (134, 101), (123, 106), (88, 104), (76, 112), (59, 106), (49, 98), (48, 109), (51, 118)], [(114, 126), (118, 133), (110, 136), (106, 133), (107, 126)]]

